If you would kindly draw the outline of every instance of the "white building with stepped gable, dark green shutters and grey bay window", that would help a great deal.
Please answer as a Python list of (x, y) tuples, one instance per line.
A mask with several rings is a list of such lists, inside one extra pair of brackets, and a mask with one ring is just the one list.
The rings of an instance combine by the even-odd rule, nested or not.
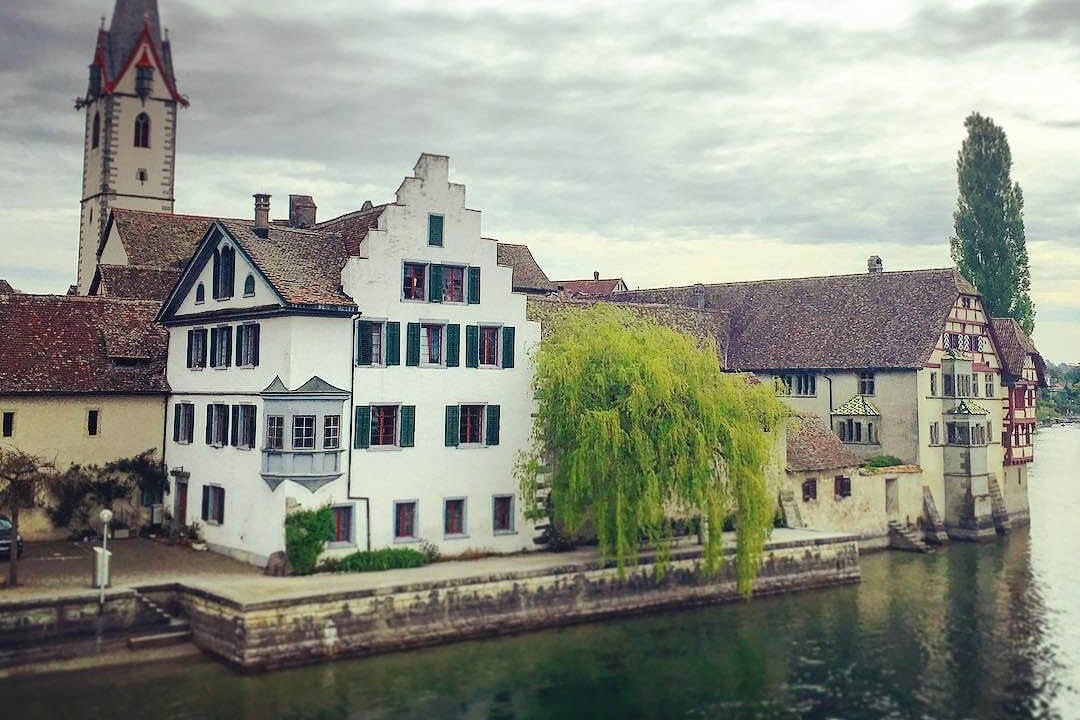
[[(313, 215), (314, 207), (311, 206)], [(165, 300), (172, 512), (265, 563), (294, 506), (336, 552), (532, 547), (513, 465), (539, 326), (480, 213), (424, 154), (396, 201), (314, 225), (213, 220)]]

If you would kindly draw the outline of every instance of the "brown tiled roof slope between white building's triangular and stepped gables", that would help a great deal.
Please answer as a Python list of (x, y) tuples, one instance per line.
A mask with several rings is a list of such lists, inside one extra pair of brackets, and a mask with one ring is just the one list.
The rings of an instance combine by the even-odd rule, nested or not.
[(337, 233), (271, 225), (267, 237), (259, 237), (251, 220), (220, 222), (285, 302), (355, 308), (341, 290), (347, 256)]

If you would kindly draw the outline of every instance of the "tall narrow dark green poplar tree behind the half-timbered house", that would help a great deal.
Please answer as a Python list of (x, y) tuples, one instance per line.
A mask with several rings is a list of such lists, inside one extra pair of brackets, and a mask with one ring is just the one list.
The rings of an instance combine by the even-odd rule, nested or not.
[(1035, 305), (1028, 291), (1024, 235), (1024, 193), (1010, 178), (1012, 152), (1004, 131), (973, 112), (964, 120), (968, 137), (957, 154), (959, 186), (956, 231), (950, 241), (960, 273), (983, 295), (990, 315), (1014, 317), (1028, 335), (1035, 328)]

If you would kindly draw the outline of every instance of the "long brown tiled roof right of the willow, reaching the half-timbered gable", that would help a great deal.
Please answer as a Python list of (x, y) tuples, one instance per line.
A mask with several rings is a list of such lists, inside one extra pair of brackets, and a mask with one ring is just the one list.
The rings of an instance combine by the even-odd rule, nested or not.
[(961, 293), (956, 270), (827, 275), (616, 293), (624, 302), (696, 303), (731, 315), (734, 370), (918, 368)]

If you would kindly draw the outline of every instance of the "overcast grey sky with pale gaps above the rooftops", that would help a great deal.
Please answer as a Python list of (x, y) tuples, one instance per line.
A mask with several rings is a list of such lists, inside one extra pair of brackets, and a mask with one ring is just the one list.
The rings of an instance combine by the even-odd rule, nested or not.
[[(450, 155), (486, 236), (631, 288), (947, 267), (963, 120), (1008, 134), (1035, 340), (1080, 362), (1080, 3), (159, 0), (176, 212), (319, 217)], [(75, 282), (111, 0), (0, 4), (0, 277)]]

